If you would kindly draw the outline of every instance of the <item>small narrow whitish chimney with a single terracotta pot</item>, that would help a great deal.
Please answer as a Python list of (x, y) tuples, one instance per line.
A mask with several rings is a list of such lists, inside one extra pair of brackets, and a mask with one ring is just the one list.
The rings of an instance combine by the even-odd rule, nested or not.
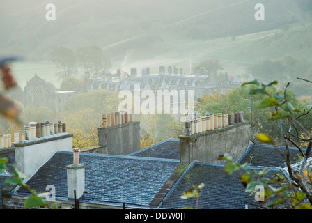
[(79, 164), (79, 149), (72, 149), (73, 164), (66, 166), (68, 198), (79, 199), (84, 195), (84, 164)]

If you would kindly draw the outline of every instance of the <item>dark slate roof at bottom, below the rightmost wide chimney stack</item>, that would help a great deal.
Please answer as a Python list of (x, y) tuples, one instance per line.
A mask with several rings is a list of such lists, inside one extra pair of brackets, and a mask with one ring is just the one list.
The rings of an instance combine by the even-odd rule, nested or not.
[[(250, 167), (251, 169), (263, 168)], [(280, 169), (270, 169), (268, 176)], [(205, 183), (199, 197), (198, 209), (248, 209), (257, 208), (255, 200), (249, 193), (244, 192), (240, 182), (240, 173), (228, 175), (224, 172), (224, 164), (194, 162), (180, 182), (173, 187), (169, 197), (160, 208), (196, 207), (196, 199), (181, 199), (183, 192), (195, 185)]]

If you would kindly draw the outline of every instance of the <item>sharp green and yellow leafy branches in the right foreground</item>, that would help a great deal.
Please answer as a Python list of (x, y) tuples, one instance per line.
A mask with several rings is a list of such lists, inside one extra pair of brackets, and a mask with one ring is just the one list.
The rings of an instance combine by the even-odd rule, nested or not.
[[(265, 96), (260, 102), (259, 107), (266, 109), (271, 107), (274, 109), (267, 117), (275, 125), (279, 126), (279, 132), (283, 137), (283, 146), (285, 151), (282, 152), (276, 147), (276, 142), (270, 135), (259, 133), (257, 138), (264, 144), (271, 144), (276, 151), (283, 157), (288, 169), (289, 179), (284, 178), (283, 175), (275, 176), (272, 178), (272, 182), (266, 178), (269, 174), (269, 170), (264, 168), (260, 172), (249, 171), (248, 164), (238, 164), (233, 162), (231, 157), (223, 155), (220, 160), (227, 160), (228, 162), (224, 166), (224, 171), (228, 174), (233, 174), (235, 171), (242, 170), (241, 181), (246, 185), (246, 191), (252, 192), (256, 185), (263, 185), (265, 189), (265, 208), (309, 208), (312, 206), (312, 173), (311, 168), (306, 167), (306, 161), (311, 153), (312, 148), (312, 134), (310, 129), (306, 129), (302, 123), (302, 118), (307, 116), (309, 111), (301, 110), (296, 105), (292, 104), (288, 100), (287, 87), (284, 88), (283, 93), (279, 91), (267, 91), (270, 86), (276, 85), (277, 82), (270, 82), (270, 84), (260, 84), (257, 80), (242, 84), (245, 86), (251, 84), (253, 88), (249, 91), (249, 95), (263, 95)], [(288, 123), (288, 128), (284, 128), (282, 122)], [(311, 125), (309, 125), (311, 127)], [(297, 130), (297, 134), (292, 134), (291, 128)], [(305, 138), (300, 138), (298, 130), (301, 129), (305, 134)], [(302, 148), (296, 143), (295, 139), (302, 139), (308, 142), (306, 151), (302, 151)], [(295, 146), (299, 153), (301, 153), (302, 160), (298, 173), (292, 169), (290, 161), (294, 158), (290, 156), (289, 146)], [(273, 186), (273, 184), (275, 186)], [(306, 201), (309, 201), (306, 203)]]

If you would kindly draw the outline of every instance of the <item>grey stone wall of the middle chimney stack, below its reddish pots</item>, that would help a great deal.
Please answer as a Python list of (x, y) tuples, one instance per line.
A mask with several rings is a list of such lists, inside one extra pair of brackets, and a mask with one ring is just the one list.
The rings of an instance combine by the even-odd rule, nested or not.
[(98, 136), (106, 154), (127, 155), (140, 149), (139, 121), (98, 128)]

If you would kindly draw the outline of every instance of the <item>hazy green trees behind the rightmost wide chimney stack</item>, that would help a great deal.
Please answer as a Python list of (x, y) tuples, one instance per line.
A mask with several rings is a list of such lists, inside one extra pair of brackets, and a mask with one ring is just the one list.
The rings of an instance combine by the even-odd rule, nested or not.
[[(256, 135), (260, 132), (269, 134), (277, 144), (283, 144), (283, 138), (279, 133), (279, 126), (270, 121), (267, 117), (274, 112), (272, 107), (261, 107), (260, 103), (265, 98), (262, 94), (249, 94), (253, 86), (242, 86), (237, 89), (227, 91), (224, 94), (214, 92), (212, 95), (204, 95), (203, 98), (199, 98), (196, 103), (195, 110), (204, 115), (206, 112), (210, 114), (214, 113), (228, 113), (233, 114), (235, 112), (244, 112), (244, 119), (251, 123), (251, 138), (254, 141), (258, 141)], [(269, 93), (278, 93), (283, 95), (283, 90), (276, 89), (275, 86), (267, 87)], [(295, 93), (287, 91), (288, 101), (295, 107), (302, 109), (302, 111), (308, 111), (309, 108), (302, 102), (297, 100)], [(306, 128), (312, 124), (308, 116), (302, 117), (304, 120), (302, 125)], [(286, 128), (287, 123), (281, 123)], [(302, 130), (296, 128), (293, 130), (295, 133), (302, 134)], [(296, 134), (297, 134), (296, 133)], [(299, 139), (295, 139), (299, 142)]]

